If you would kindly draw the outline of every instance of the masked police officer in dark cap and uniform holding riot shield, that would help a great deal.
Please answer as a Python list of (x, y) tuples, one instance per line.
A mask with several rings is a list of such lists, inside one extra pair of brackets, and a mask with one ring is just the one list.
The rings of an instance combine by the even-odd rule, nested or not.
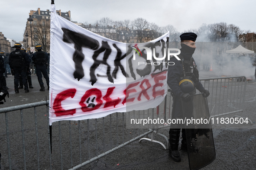
[[(172, 119), (183, 119), (181, 100), (184, 102), (188, 102), (191, 99), (190, 95), (195, 94), (196, 89), (198, 89), (201, 93), (204, 93), (204, 97), (210, 95), (209, 91), (205, 90), (203, 85), (199, 81), (198, 69), (195, 64), (194, 58), (192, 57), (196, 48), (195, 40), (197, 38), (197, 35), (193, 32), (188, 32), (181, 34), (180, 38), (181, 53), (180, 55), (178, 55), (178, 58), (180, 58), (181, 61), (179, 61), (175, 57), (171, 58), (170, 61), (174, 62), (175, 65), (169, 66), (168, 68), (167, 83), (171, 88), (173, 96)], [(185, 79), (189, 81), (185, 81)], [(190, 91), (186, 91), (188, 89), (182, 89), (189, 84), (192, 85), (189, 86), (192, 88), (190, 89)], [(171, 146), (169, 150), (169, 156), (177, 162), (181, 161), (181, 157), (178, 152), (180, 132), (181, 128), (178, 125), (173, 125), (169, 130), (169, 142)], [(185, 128), (182, 128), (181, 150), (187, 150)]]

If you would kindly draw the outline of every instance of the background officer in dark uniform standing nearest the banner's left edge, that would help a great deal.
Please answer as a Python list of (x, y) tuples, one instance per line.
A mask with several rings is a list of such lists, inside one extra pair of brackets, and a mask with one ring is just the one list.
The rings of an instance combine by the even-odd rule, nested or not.
[(47, 87), (49, 90), (49, 76), (47, 74), (47, 61), (49, 59), (49, 56), (46, 52), (42, 51), (42, 45), (37, 44), (36, 45), (37, 52), (32, 55), (33, 63), (36, 66), (36, 76), (39, 82), (39, 85), (41, 87), (40, 91), (45, 91), (44, 83), (42, 80), (42, 74), (45, 77)]

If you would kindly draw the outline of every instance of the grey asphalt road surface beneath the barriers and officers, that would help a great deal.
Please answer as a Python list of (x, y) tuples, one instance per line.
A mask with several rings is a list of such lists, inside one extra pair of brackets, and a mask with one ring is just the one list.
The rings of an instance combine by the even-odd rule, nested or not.
[[(204, 74), (202, 74), (204, 75)], [(206, 74), (205, 74), (206, 75)], [(218, 75), (217, 73), (215, 74)], [(215, 75), (211, 75), (215, 77)], [(7, 98), (6, 103), (4, 105), (0, 105), (1, 108), (9, 107), (9, 106), (16, 106), (26, 103), (34, 103), (39, 101), (44, 101), (45, 99), (49, 99), (49, 91), (45, 90), (45, 92), (40, 92), (39, 83), (37, 81), (37, 77), (32, 75), (32, 83), (34, 89), (29, 89), (29, 93), (24, 93), (24, 90), (20, 90), (20, 93), (14, 93), (14, 85), (13, 85), (13, 76), (9, 76), (6, 78), (7, 86), (10, 88), (10, 98)], [(44, 80), (45, 83), (45, 80)], [(45, 86), (46, 87), (46, 86)], [(47, 98), (46, 98), (47, 97)], [(256, 82), (247, 83), (246, 88), (246, 100), (245, 100), (245, 110), (243, 115), (256, 115)], [(49, 163), (47, 162), (49, 154), (43, 154), (44, 150), (47, 150), (48, 143), (47, 143), (47, 128), (45, 126), (45, 113), (41, 113), (38, 111), (38, 122), (39, 122), (39, 130), (42, 133), (39, 133), (39, 139), (44, 141), (39, 143), (40, 144), (40, 169), (49, 169)], [(25, 140), (26, 140), (26, 149), (35, 148), (35, 144), (30, 144), (33, 137), (29, 137), (27, 134), (34, 135), (34, 126), (29, 126), (29, 119), (33, 118), (33, 110), (28, 112), (27, 115), (24, 115), (24, 124), (25, 124)], [(16, 113), (11, 113), (8, 115), (9, 123), (10, 123), (10, 133), (12, 134), (11, 140), (11, 151), (12, 151), (12, 165), (13, 169), (20, 170), (23, 169), (23, 154), (22, 154), (22, 143), (21, 143), (21, 131), (20, 131), (20, 116)], [(72, 123), (72, 130), (77, 129), (77, 122), (78, 121), (71, 121)], [(62, 122), (65, 124), (67, 122)], [(81, 122), (82, 124), (83, 122)], [(8, 169), (7, 163), (7, 154), (6, 154), (6, 129), (5, 129), (5, 116), (4, 114), (0, 114), (0, 152), (2, 153), (1, 158), (1, 169), (6, 170)], [(34, 122), (33, 122), (34, 125)], [(114, 125), (114, 122), (113, 122)], [(68, 126), (68, 125), (67, 125)], [(92, 125), (94, 127), (94, 125)], [(56, 143), (56, 146), (53, 148), (53, 169), (59, 170), (61, 167), (59, 166), (59, 161), (57, 158), (60, 157), (59, 148), (58, 148), (58, 126), (56, 124), (56, 132), (53, 132), (53, 140)], [(84, 128), (84, 134), (87, 132), (86, 127)], [(107, 127), (105, 127), (107, 128)], [(100, 129), (100, 126), (98, 127)], [(168, 135), (168, 129), (162, 129), (160, 132), (166, 136)], [(83, 133), (83, 132), (82, 132)], [(99, 132), (100, 133), (100, 132)], [(106, 141), (107, 136), (109, 136), (108, 132), (106, 134)], [(114, 130), (112, 131), (114, 134)], [(113, 135), (112, 134), (112, 135)], [(128, 133), (129, 134), (129, 133)], [(214, 143), (216, 149), (216, 159), (209, 164), (208, 166), (202, 168), (202, 170), (253, 170), (256, 169), (256, 129), (255, 123), (252, 126), (246, 129), (213, 129), (214, 134)], [(62, 137), (67, 135), (68, 130), (62, 131)], [(100, 135), (100, 134), (98, 134)], [(15, 138), (16, 136), (16, 138)], [(84, 140), (82, 147), (86, 147), (86, 135), (84, 135)], [(93, 134), (91, 136), (91, 141), (93, 141)], [(156, 140), (159, 140), (163, 143), (166, 143), (162, 137), (154, 135)], [(125, 136), (126, 138), (127, 136)], [(65, 138), (62, 140), (63, 147), (68, 150), (69, 145), (65, 145), (68, 143), (69, 138)], [(122, 138), (122, 137), (120, 137)], [(150, 135), (149, 135), (150, 138)], [(76, 138), (72, 136), (72, 139), (75, 140)], [(102, 144), (99, 143), (99, 148)], [(95, 147), (95, 144), (91, 144), (91, 149)], [(94, 148), (95, 149), (95, 148)], [(100, 150), (100, 149), (99, 149)], [(85, 151), (87, 151), (85, 149)], [(4, 154), (3, 154), (4, 153)], [(181, 151), (181, 162), (177, 163), (172, 161), (168, 156), (168, 151), (164, 150), (161, 145), (152, 143), (149, 141), (142, 141), (139, 143), (138, 141), (133, 142), (107, 156), (94, 161), (91, 164), (82, 167), (82, 170), (189, 170), (188, 166), (188, 155), (186, 152)], [(78, 151), (73, 151), (73, 166), (79, 164), (79, 157)], [(36, 160), (36, 151), (26, 151), (26, 164), (27, 169), (34, 170), (37, 169), (37, 160)], [(86, 158), (83, 157), (83, 161)], [(45, 161), (45, 162), (44, 162)], [(63, 162), (65, 164), (64, 169), (68, 169), (71, 167), (70, 165), (70, 155), (63, 154)], [(117, 166), (117, 164), (119, 164)]]

